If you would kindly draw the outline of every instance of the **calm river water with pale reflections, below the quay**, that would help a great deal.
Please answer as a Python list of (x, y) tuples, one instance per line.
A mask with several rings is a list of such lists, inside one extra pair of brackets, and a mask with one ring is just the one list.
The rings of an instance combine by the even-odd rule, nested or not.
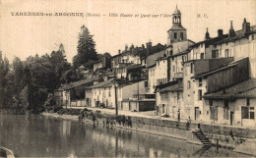
[(245, 157), (171, 137), (40, 115), (0, 114), (0, 145), (19, 157)]

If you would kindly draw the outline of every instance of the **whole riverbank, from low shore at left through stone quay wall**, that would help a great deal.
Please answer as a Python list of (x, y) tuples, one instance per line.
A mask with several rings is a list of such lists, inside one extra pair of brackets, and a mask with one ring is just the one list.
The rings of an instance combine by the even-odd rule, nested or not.
[[(63, 110), (65, 111), (65, 110)], [(69, 111), (68, 109), (66, 111)], [(81, 109), (73, 109), (79, 114)], [(168, 118), (158, 118), (144, 116), (144, 114), (119, 112), (115, 116), (109, 113), (108, 109), (87, 108), (85, 112), (85, 121), (103, 126), (111, 126), (137, 132), (149, 132), (164, 136), (184, 139), (189, 143), (203, 144), (195, 134), (198, 129), (197, 123), (190, 124), (189, 128), (185, 121), (168, 120)], [(108, 113), (107, 113), (108, 112)], [(59, 115), (52, 113), (43, 113), (45, 116), (58, 117), (69, 120), (79, 120), (78, 115)], [(246, 128), (222, 127), (217, 125), (200, 125), (200, 130), (209, 141), (216, 146), (228, 148), (236, 152), (256, 155), (256, 132)]]

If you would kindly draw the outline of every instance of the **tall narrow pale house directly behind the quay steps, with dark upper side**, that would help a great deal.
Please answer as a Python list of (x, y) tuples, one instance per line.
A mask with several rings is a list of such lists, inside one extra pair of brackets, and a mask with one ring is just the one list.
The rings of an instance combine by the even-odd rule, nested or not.
[(203, 120), (203, 94), (207, 92), (207, 80), (195, 78), (200, 74), (216, 70), (233, 61), (233, 58), (202, 59), (184, 62), (183, 66), (183, 100), (184, 109), (181, 112), (185, 119)]

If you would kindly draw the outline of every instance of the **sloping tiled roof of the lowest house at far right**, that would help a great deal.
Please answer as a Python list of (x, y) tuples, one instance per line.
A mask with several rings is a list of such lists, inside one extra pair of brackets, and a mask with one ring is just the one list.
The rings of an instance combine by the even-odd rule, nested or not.
[(256, 98), (256, 79), (248, 79), (223, 90), (208, 93), (205, 98), (226, 99), (226, 98)]

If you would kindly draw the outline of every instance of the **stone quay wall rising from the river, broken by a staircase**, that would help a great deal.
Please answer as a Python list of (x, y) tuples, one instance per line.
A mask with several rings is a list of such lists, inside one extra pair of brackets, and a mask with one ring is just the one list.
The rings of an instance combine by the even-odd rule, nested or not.
[[(115, 121), (115, 115), (110, 114), (105, 116), (103, 114), (98, 120), (103, 124), (106, 124), (108, 120), (108, 122), (112, 122), (112, 125), (117, 125), (121, 128), (185, 139), (189, 143), (202, 145), (202, 142), (192, 132), (193, 130), (200, 128), (201, 131), (206, 135), (206, 137), (209, 138), (213, 145), (228, 149), (234, 149), (234, 151), (245, 154), (256, 155), (256, 140), (254, 141), (254, 138), (256, 136), (255, 130), (234, 127), (222, 127), (216, 125), (198, 125), (195, 123), (190, 124), (189, 128), (187, 128), (185, 122), (164, 120), (164, 118), (125, 118), (125, 124), (118, 124)], [(127, 122), (129, 122), (127, 120), (130, 121), (131, 126), (127, 124)], [(245, 147), (247, 145), (249, 145), (250, 147)]]

